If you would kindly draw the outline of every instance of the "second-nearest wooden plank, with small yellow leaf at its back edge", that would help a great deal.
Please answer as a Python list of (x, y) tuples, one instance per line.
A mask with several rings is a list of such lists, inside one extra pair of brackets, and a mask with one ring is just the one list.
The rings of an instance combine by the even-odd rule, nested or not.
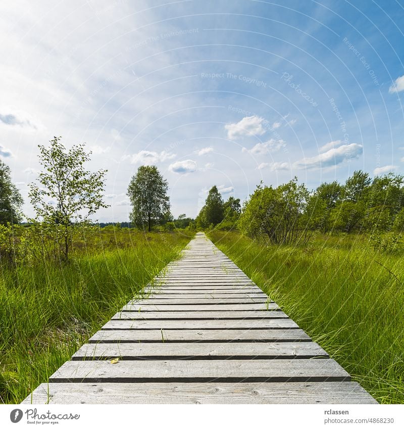
[(349, 382), (350, 375), (333, 359), (272, 360), (104, 360), (65, 362), (49, 382), (161, 383), (161, 382)]

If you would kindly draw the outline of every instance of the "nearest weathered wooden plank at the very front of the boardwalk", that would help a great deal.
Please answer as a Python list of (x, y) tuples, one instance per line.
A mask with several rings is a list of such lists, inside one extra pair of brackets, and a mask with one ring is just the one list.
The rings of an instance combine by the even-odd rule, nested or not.
[(41, 384), (23, 404), (377, 404), (356, 382)]

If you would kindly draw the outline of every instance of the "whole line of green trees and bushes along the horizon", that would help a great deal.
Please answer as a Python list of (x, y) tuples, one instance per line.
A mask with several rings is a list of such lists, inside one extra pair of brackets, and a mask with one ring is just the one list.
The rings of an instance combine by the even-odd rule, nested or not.
[[(68, 260), (74, 236), (89, 230), (90, 216), (99, 208), (109, 207), (103, 200), (107, 170), (90, 172), (84, 168), (91, 154), (85, 152), (84, 145), (67, 150), (61, 137), (50, 143), (38, 146), (42, 171), (29, 184), (28, 193), (35, 216), (27, 219), (29, 228), (25, 234), (17, 234), (17, 239), (14, 228), (23, 219), (23, 199), (11, 180), (10, 168), (0, 160), (1, 258), (15, 256), (17, 243), (24, 249), (39, 249), (42, 256)], [(237, 229), (274, 244), (305, 243), (316, 231), (401, 232), (403, 183), (399, 174), (371, 178), (358, 170), (344, 183), (322, 183), (309, 191), (294, 177), (276, 187), (261, 182), (242, 206), (234, 197), (224, 201), (213, 186), (195, 219), (185, 214), (174, 219), (167, 180), (156, 166), (140, 166), (127, 189), (132, 205), (128, 226), (144, 231)]]

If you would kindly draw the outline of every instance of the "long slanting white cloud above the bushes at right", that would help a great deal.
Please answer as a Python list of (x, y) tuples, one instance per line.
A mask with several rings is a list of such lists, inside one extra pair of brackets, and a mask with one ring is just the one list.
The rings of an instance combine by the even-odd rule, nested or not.
[(339, 148), (330, 149), (323, 154), (312, 158), (303, 158), (300, 161), (293, 163), (293, 167), (300, 169), (315, 169), (321, 167), (331, 167), (341, 164), (345, 159), (358, 158), (363, 153), (363, 146), (352, 143), (350, 145), (342, 145)]

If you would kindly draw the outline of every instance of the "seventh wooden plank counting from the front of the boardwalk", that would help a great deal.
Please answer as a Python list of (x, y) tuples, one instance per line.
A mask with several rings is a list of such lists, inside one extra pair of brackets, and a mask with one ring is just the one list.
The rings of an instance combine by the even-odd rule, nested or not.
[(127, 304), (122, 311), (239, 311), (239, 310), (279, 310), (275, 303), (259, 304)]

